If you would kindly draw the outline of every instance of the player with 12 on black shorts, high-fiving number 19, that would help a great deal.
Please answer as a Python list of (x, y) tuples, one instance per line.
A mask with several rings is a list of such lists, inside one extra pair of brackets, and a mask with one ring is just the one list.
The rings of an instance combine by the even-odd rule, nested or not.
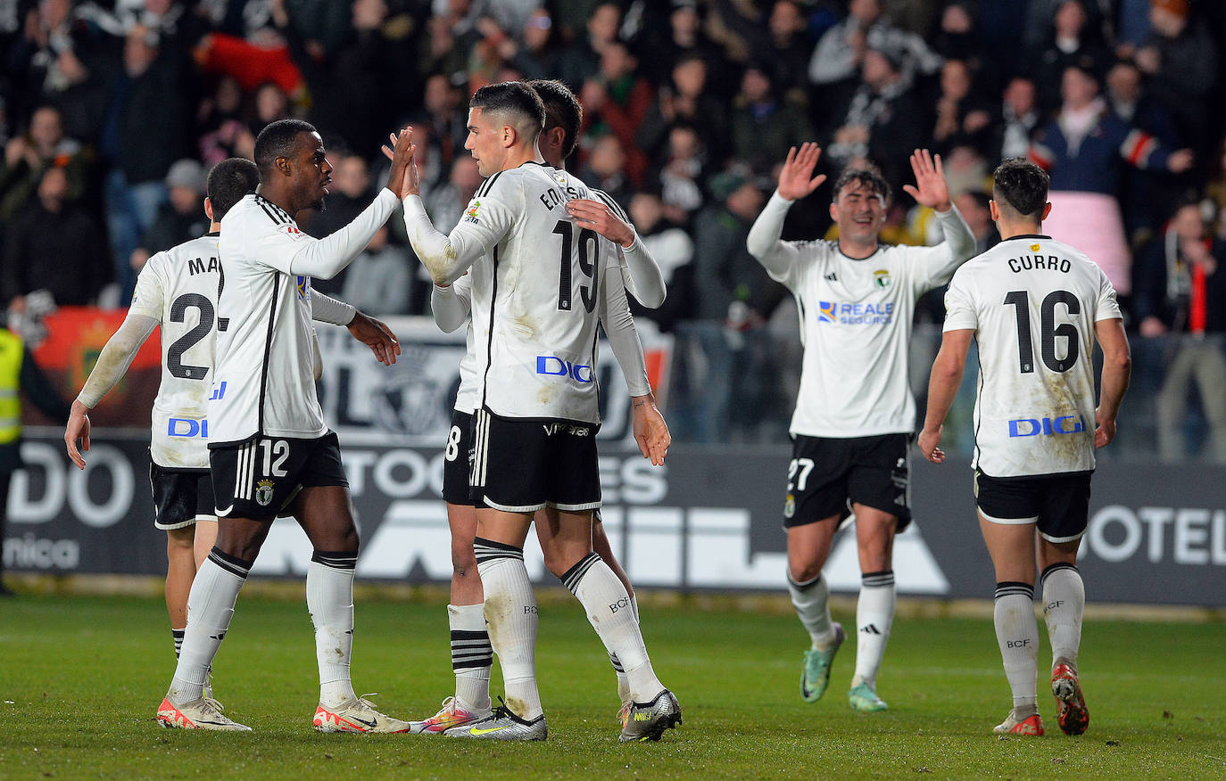
[[(157, 719), (170, 727), (248, 730), (202, 697), (206, 672), (229, 627), (238, 592), (273, 518), (291, 513), (315, 548), (306, 569), (306, 606), (315, 624), (322, 732), (403, 732), (408, 722), (380, 714), (353, 692), (353, 570), (358, 531), (336, 435), (315, 397), (310, 279), (330, 279), (387, 220), (403, 186), (409, 140), (397, 141), (389, 187), (341, 230), (316, 241), (294, 214), (319, 208), (332, 166), (315, 129), (278, 120), (255, 141), (259, 190), (222, 220), (218, 242), (226, 286), (218, 317), (213, 394), (208, 406), (210, 469), (217, 502), (217, 545), (188, 596), (183, 651)], [(331, 317), (329, 320), (332, 320)], [(356, 334), (384, 364), (395, 337), (370, 321)]]

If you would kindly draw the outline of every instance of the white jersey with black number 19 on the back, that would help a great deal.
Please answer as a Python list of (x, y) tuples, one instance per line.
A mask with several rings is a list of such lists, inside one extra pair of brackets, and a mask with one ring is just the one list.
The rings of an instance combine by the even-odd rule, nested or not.
[(590, 197), (566, 171), (539, 163), (500, 171), (460, 224), (485, 247), (472, 267), (479, 405), (505, 417), (600, 422), (596, 324), (613, 244), (566, 213)]

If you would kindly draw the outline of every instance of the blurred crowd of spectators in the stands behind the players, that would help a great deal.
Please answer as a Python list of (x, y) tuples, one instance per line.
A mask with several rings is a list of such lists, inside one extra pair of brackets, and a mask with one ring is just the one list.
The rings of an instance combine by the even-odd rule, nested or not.
[[(571, 169), (664, 269), (668, 301), (638, 313), (666, 332), (786, 310), (744, 240), (809, 140), (825, 173), (873, 164), (895, 186), (891, 242), (939, 235), (901, 192), (911, 149), (942, 154), (983, 248), (992, 169), (1029, 157), (1052, 175), (1049, 233), (1107, 271), (1133, 332), (1226, 331), (1215, 0), (0, 0), (0, 296), (18, 310), (36, 290), (123, 305), (151, 253), (206, 228), (208, 166), (284, 116), (314, 122), (336, 168), (308, 233), (365, 206), (403, 124), (446, 228), (479, 184), (468, 95), (548, 77), (584, 104)], [(829, 236), (829, 200), (793, 208), (785, 237)], [(319, 286), (423, 313), (400, 229)], [(937, 294), (920, 317), (942, 311)]]

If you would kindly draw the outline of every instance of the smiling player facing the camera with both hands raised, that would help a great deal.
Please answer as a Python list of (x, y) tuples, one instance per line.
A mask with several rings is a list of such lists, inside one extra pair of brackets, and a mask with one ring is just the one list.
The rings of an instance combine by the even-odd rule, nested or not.
[(835, 181), (830, 217), (837, 241), (780, 241), (792, 201), (825, 180), (813, 176), (821, 149), (793, 147), (779, 189), (749, 230), (749, 252), (801, 308), (804, 362), (792, 415), (787, 471), (787, 589), (812, 649), (804, 654), (801, 697), (821, 699), (843, 629), (830, 618), (821, 567), (848, 509), (856, 515), (861, 589), (856, 606), (852, 710), (885, 710), (877, 672), (894, 622), (894, 535), (911, 521), (907, 446), (915, 400), (907, 387), (907, 342), (916, 301), (949, 282), (971, 257), (975, 236), (950, 203), (940, 157), (916, 149), (915, 186), (904, 187), (937, 211), (945, 241), (935, 247), (881, 245), (878, 235), (890, 187), (873, 170), (847, 169)]

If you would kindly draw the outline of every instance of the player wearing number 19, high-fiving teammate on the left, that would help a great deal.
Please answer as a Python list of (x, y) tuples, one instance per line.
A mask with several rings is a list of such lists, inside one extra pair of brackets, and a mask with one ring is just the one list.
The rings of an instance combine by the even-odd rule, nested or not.
[(450, 284), (472, 268), (478, 409), (470, 482), (485, 504), (477, 509), (473, 547), (506, 681), (505, 708), (446, 734), (547, 736), (533, 663), (536, 601), (524, 567), (532, 515), (546, 509), (558, 552), (547, 566), (628, 676), (633, 704), (620, 739), (656, 739), (680, 722), (680, 708), (651, 667), (629, 594), (592, 552), (592, 510), (601, 503), (596, 308), (614, 247), (566, 209), (588, 190), (544, 164), (537, 151), (543, 125), (544, 106), (527, 86), (477, 91), (465, 147), (488, 179), (450, 236), (430, 224), (416, 169), (406, 173), (405, 223), (434, 282)]

